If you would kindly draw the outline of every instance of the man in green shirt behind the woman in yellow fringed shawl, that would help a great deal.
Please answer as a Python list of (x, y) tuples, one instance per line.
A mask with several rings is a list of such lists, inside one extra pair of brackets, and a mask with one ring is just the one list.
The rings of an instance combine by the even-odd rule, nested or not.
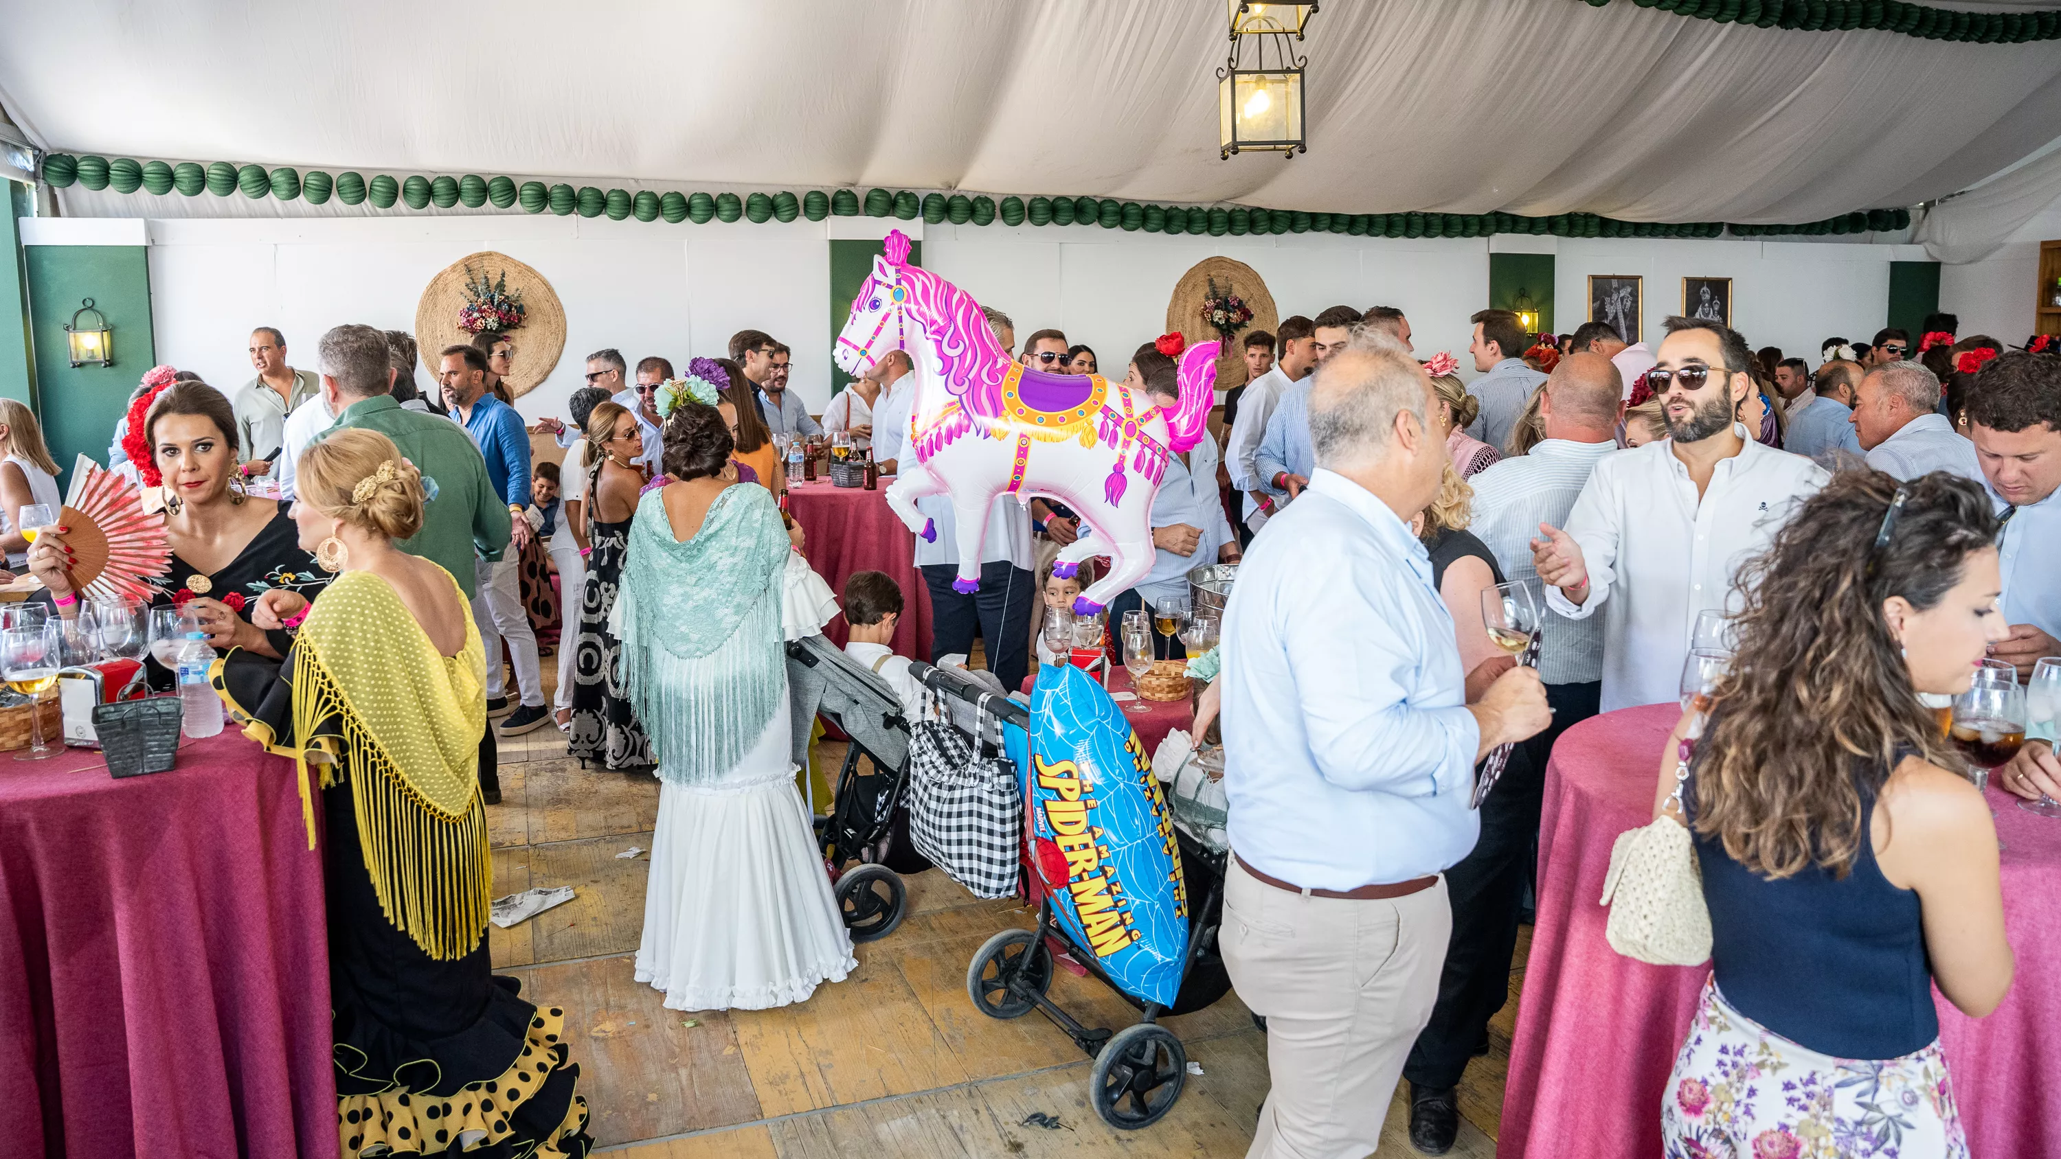
[[(338, 416), (330, 430), (377, 430), (423, 471), (423, 490), (429, 492), (423, 529), (396, 548), (451, 572), (470, 601), (476, 587), (474, 560), (499, 560), (511, 531), (509, 508), (486, 478), (480, 449), (464, 426), (394, 401), (396, 371), (383, 331), (369, 325), (330, 329), (322, 336), (319, 364), (322, 393)], [(488, 657), (486, 663), (501, 663), (501, 657)], [(480, 791), (488, 805), (501, 803), (495, 762), (495, 731), (488, 727), (480, 739)]]

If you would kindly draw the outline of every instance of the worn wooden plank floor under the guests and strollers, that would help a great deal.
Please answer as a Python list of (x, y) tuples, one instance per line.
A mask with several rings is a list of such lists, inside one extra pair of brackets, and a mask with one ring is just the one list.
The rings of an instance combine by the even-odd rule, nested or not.
[[(546, 681), (554, 673), (546, 659)], [(841, 745), (818, 760), (837, 768)], [(488, 807), (495, 895), (573, 885), (573, 902), (515, 928), (491, 928), (497, 974), (563, 1007), (596, 1143), (635, 1159), (843, 1159), (897, 1155), (1088, 1157), (1243, 1155), (1268, 1089), (1265, 1035), (1237, 994), (1167, 1019), (1189, 1075), (1158, 1124), (1119, 1132), (1088, 1108), (1092, 1062), (1041, 1015), (995, 1021), (967, 998), (967, 963), (995, 930), (1035, 918), (979, 902), (938, 871), (909, 879), (911, 914), (857, 947), (859, 970), (779, 1011), (680, 1013), (635, 980), (657, 782), (583, 770), (565, 737), (540, 729), (501, 743), (501, 805)], [(1517, 945), (1511, 1003), (1490, 1054), (1467, 1066), (1451, 1155), (1488, 1159), (1517, 1021), (1529, 930)], [(1059, 972), (1053, 998), (1082, 1021), (1121, 1027), (1136, 1011)], [(1026, 1126), (1035, 1114), (1059, 1128)], [(1414, 1155), (1404, 1091), (1383, 1153)]]

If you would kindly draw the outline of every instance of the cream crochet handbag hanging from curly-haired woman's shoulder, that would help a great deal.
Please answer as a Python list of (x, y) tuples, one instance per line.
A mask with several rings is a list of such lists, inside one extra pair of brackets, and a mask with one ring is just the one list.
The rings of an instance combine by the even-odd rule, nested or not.
[(1676, 788), (1649, 826), (1618, 834), (1603, 877), (1610, 949), (1653, 965), (1698, 965), (1711, 957), (1711, 906), (1702, 900), (1702, 869), (1682, 811), (1690, 741), (1676, 751)]

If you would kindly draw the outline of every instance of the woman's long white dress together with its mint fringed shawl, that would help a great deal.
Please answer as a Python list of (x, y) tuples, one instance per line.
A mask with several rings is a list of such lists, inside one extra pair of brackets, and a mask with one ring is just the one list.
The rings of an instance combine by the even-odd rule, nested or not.
[[(678, 543), (660, 492), (647, 494), (631, 533), (629, 570), (649, 568), (655, 587), (624, 583), (616, 603), (622, 663), (639, 716), (649, 723), (662, 782), (637, 980), (664, 990), (674, 1011), (785, 1007), (857, 970), (793, 782), (781, 653), (787, 537), (771, 498), (758, 496), (767, 490), (725, 490), (703, 529)], [(732, 543), (713, 543), (711, 535)], [(697, 546), (703, 552), (690, 552)], [(713, 651), (688, 659), (668, 653), (692, 636), (680, 624), (709, 624), (711, 601), (736, 607), (709, 599), (711, 585), (732, 587), (730, 599), (750, 611), (732, 616), (734, 634)], [(701, 607), (682, 607), (674, 597), (682, 589)], [(655, 595), (662, 613), (639, 607), (653, 593), (664, 593)], [(721, 760), (746, 741), (740, 758)]]

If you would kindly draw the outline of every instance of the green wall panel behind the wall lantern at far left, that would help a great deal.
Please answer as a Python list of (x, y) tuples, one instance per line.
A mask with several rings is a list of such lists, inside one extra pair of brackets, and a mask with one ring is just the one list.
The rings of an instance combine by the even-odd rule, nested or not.
[[(130, 391), (157, 364), (150, 331), (150, 264), (140, 245), (29, 245), (29, 315), (43, 438), (70, 486), (72, 459), (107, 461)], [(113, 327), (113, 366), (72, 366), (64, 325), (80, 298)]]

